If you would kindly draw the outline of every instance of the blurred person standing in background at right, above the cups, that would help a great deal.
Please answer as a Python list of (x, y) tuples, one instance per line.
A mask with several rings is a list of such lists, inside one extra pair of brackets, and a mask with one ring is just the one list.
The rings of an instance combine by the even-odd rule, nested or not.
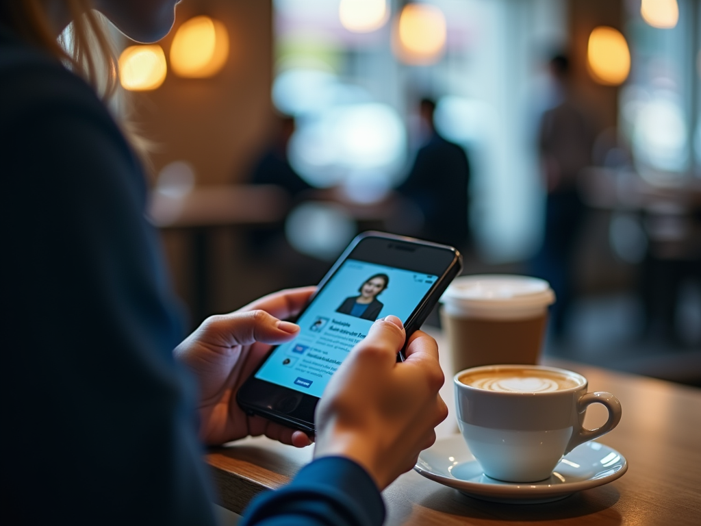
[(545, 185), (543, 244), (532, 273), (550, 282), (557, 301), (550, 312), (555, 337), (564, 337), (575, 292), (575, 250), (585, 217), (577, 179), (592, 163), (594, 136), (570, 86), (569, 59), (555, 55), (549, 63), (554, 105), (540, 120), (538, 153)]

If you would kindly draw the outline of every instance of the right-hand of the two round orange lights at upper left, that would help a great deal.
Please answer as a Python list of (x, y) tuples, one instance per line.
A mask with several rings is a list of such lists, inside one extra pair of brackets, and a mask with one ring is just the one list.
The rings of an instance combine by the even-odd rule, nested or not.
[(229, 33), (222, 22), (196, 16), (181, 25), (170, 47), (170, 66), (178, 76), (213, 76), (229, 58)]

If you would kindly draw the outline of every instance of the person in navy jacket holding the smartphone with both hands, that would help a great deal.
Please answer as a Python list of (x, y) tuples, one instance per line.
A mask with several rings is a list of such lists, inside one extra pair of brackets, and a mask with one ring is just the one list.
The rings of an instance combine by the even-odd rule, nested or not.
[[(214, 524), (203, 444), (311, 442), (235, 398), (269, 346), (297, 335), (284, 320), (313, 288), (212, 316), (179, 343), (141, 163), (107, 109), (116, 62), (93, 11), (148, 42), (168, 33), (175, 3), (0, 0), (3, 523)], [(70, 22), (74, 53), (57, 42)], [(435, 341), (414, 332), (396, 363), (405, 338), (394, 316), (372, 325), (318, 405), (314, 461), (253, 504), (248, 525), (383, 520), (379, 491), (447, 416)]]

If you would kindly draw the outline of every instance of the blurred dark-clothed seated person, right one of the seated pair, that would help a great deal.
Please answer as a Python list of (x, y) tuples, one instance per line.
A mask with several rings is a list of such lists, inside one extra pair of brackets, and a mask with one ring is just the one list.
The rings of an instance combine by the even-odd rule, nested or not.
[(397, 191), (413, 201), (423, 214), (423, 228), (416, 236), (466, 252), (471, 244), (470, 162), (462, 147), (437, 132), (433, 121), (435, 107), (428, 98), (419, 103), (423, 141), (407, 179)]

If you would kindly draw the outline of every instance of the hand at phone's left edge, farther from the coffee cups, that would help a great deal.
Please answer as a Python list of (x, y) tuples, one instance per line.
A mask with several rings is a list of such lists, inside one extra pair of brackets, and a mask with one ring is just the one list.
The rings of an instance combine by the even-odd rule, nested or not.
[(297, 447), (311, 444), (302, 431), (245, 414), (236, 403), (236, 392), (272, 344), (297, 336), (298, 325), (278, 318), (299, 313), (314, 290), (283, 290), (238, 311), (210, 316), (177, 346), (175, 357), (189, 367), (199, 384), (200, 439), (205, 444), (223, 444), (249, 435), (265, 435)]

